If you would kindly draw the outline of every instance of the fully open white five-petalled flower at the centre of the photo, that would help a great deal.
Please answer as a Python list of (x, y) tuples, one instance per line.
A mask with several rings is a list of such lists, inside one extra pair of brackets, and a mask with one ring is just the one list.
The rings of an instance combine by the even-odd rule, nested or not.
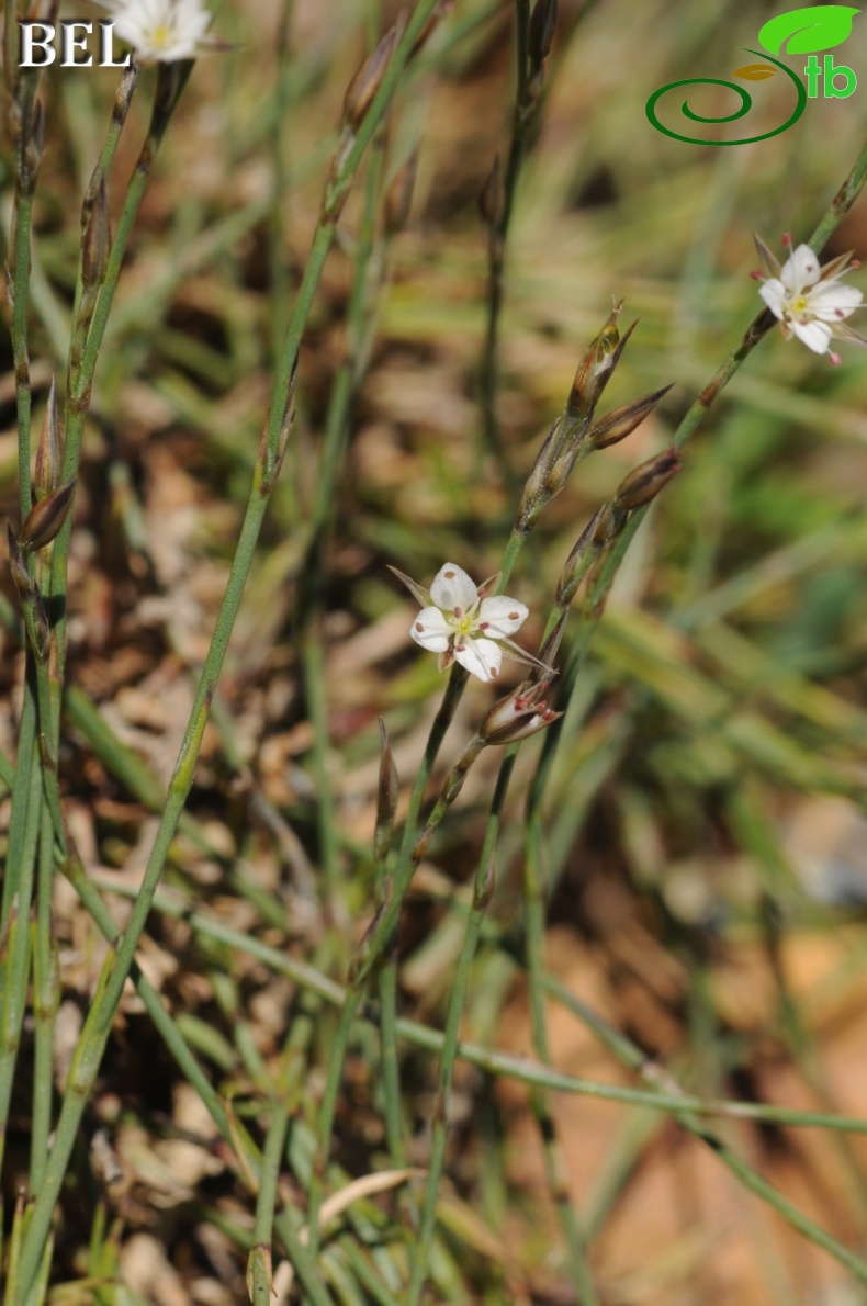
[(440, 654), (440, 671), (457, 661), (479, 680), (492, 680), (504, 649), (507, 657), (539, 665), (509, 639), (528, 619), (529, 609), (504, 594), (486, 598), (490, 581), (477, 585), (454, 563), (445, 563), (428, 593), (396, 567), (390, 569), (424, 605), (410, 635), (423, 649)]

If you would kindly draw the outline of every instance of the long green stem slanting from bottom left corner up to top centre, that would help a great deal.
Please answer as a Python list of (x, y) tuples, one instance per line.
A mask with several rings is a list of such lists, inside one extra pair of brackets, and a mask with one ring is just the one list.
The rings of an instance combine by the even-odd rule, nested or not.
[[(168, 786), (166, 807), (157, 831), (151, 854), (148, 859), (140, 893), (127, 929), (119, 939), (116, 952), (112, 949), (106, 959), (106, 966), (101, 977), (98, 993), (94, 996), (87, 1020), (85, 1021), (76, 1062), (69, 1072), (69, 1087), (60, 1111), (60, 1119), (57, 1122), (55, 1143), (51, 1151), (44, 1183), (34, 1203), (27, 1230), (22, 1242), (21, 1284), (24, 1296), (20, 1302), (16, 1302), (16, 1306), (24, 1306), (26, 1293), (30, 1290), (30, 1285), (35, 1279), (39, 1256), (44, 1246), (54, 1207), (63, 1185), (63, 1178), (69, 1164), (81, 1115), (89, 1094), (93, 1091), (102, 1053), (108, 1040), (114, 1016), (123, 994), (123, 986), (132, 969), (136, 948), (150, 912), (150, 905), (159, 883), (166, 855), (178, 828), (178, 821), (183, 812), (187, 794), (189, 793), (189, 788), (193, 781), (196, 759), (198, 756), (201, 739), (208, 721), (210, 700), (222, 667), (235, 616), (240, 606), (261, 522), (265, 516), (268, 502), (270, 499), (285, 453), (286, 440), (289, 438), (289, 407), (298, 360), (298, 350), (313, 295), (325, 264), (325, 257), (334, 236), (337, 217), (360, 163), (362, 154), (381, 121), (388, 102), (397, 88), (400, 74), (410, 56), (415, 38), (430, 17), (435, 4), (436, 0), (420, 0), (413, 13), (403, 37), (394, 50), (388, 68), (383, 73), (380, 85), (376, 94), (371, 99), (366, 116), (358, 124), (358, 129), (355, 131), (351, 142), (347, 142), (347, 148), (341, 151), (338, 158), (336, 158), (332, 175), (329, 176), (325, 188), (323, 212), (313, 234), (311, 255), (298, 291), (286, 340), (283, 341), (283, 351), (274, 377), (274, 397), (272, 409), (256, 460), (253, 483), (251, 486), (247, 511), (242, 524), (240, 538), (232, 560), (226, 593), (217, 618), (217, 626), (212, 637), (210, 648), (205, 658), (198, 690), (196, 692), (189, 722), (184, 733), (180, 754), (175, 764), (175, 772)], [(142, 166), (146, 166), (149, 172), (150, 159), (145, 159)], [(138, 175), (140, 172), (137, 171), (137, 176)], [(131, 184), (131, 193), (134, 184), (136, 179), (133, 179), (133, 183)], [(118, 240), (120, 240), (120, 231)], [(112, 256), (114, 252), (112, 247)], [(94, 332), (98, 332), (98, 340), (102, 338), (106, 317), (107, 307), (103, 312), (103, 295), (101, 294), (90, 328), (90, 337), (84, 355), (82, 370), (86, 370), (87, 367), (93, 370), (98, 345), (95, 345), (91, 350), (91, 338)], [(81, 398), (84, 400), (84, 394)], [(68, 449), (64, 451), (64, 453), (68, 453)], [(61, 537), (59, 537), (59, 539)], [(65, 576), (65, 559), (60, 573)]]

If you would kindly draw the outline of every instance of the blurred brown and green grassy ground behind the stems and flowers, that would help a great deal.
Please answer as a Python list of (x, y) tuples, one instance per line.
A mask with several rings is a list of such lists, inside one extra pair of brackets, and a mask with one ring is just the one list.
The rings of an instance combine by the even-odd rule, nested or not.
[[(82, 8), (93, 7), (78, 5), (76, 17)], [(445, 683), (436, 660), (409, 639), (415, 607), (388, 564), (422, 585), (447, 559), (478, 581), (496, 572), (516, 487), (582, 350), (612, 300), (624, 299), (622, 323), (640, 321), (603, 409), (672, 388), (629, 439), (578, 468), (535, 529), (509, 586), (531, 610), (520, 639), (535, 648), (585, 522), (636, 464), (666, 448), (757, 312), (752, 232), (781, 256), (783, 232), (807, 239), (864, 145), (867, 72), (850, 98), (811, 99), (790, 129), (753, 145), (687, 145), (648, 123), (645, 102), (657, 88), (730, 77), (751, 61), (744, 48), (757, 48), (759, 29), (777, 12), (733, 0), (561, 0), (505, 252), (501, 460), (486, 445), (479, 405), (488, 272), (478, 196), (509, 145), (509, 4), (462, 0), (444, 13), (398, 95), (385, 175), (417, 148), (418, 174), (403, 229), (385, 239), (376, 227), (360, 345), (346, 320), (363, 178), (346, 205), (302, 347), (295, 434), (205, 737), (193, 827), (176, 840), (166, 872), (171, 910), (163, 902), (154, 913), (142, 953), (214, 1083), (249, 1106), (251, 1127), (302, 990), (202, 936), (183, 913), (206, 906), (345, 980), (349, 948), (372, 914), (377, 717), (409, 790)], [(94, 709), (165, 785), (232, 556), (343, 91), (371, 35), (394, 14), (358, 0), (223, 4), (214, 31), (232, 48), (196, 64), (132, 238), (76, 503), (69, 679), (77, 696), (61, 757), (71, 827), (94, 878), (114, 891), (118, 919), (154, 818), (118, 751), (101, 742)], [(859, 77), (864, 21), (857, 17), (834, 51)], [(789, 64), (798, 71), (798, 59)], [(114, 76), (52, 68), (43, 82), (48, 144), (30, 345), (38, 421), (50, 377), (64, 367), (78, 209)], [(112, 215), (153, 76), (142, 77), (121, 140)], [(746, 85), (756, 99), (751, 127), (785, 120), (793, 95), (782, 76)], [(8, 161), (4, 170), (8, 231)], [(846, 249), (867, 253), (863, 200), (825, 259)], [(866, 286), (864, 274), (851, 283)], [(356, 388), (317, 599), (323, 757), (299, 667), (299, 594), (329, 397), (347, 347)], [(770, 333), (713, 405), (627, 556), (547, 790), (546, 952), (555, 986), (667, 1066), (686, 1091), (858, 1115), (867, 1072), (867, 355), (845, 343), (841, 353), (834, 368)], [(0, 404), (0, 494), (12, 516), (5, 340)], [(13, 755), (22, 654), (7, 576), (3, 590), (0, 744)], [(573, 639), (569, 628), (567, 653)], [(518, 669), (504, 670), (504, 683), (520, 679)], [(492, 697), (478, 682), (467, 688), (443, 767)], [(539, 743), (530, 741), (518, 760), (465, 1021), (467, 1038), (528, 1055), (520, 831)], [(401, 929), (402, 1012), (436, 1028), (495, 752), (474, 768), (419, 868)], [(323, 765), (338, 866), (329, 901), (320, 875)], [(74, 1041), (102, 944), (64, 884), (56, 923), (61, 1028)], [(298, 1106), (308, 1122), (332, 1020), (323, 1015), (309, 1049)], [(559, 1070), (638, 1081), (563, 1000), (551, 999), (548, 1023)], [(436, 1063), (410, 1045), (401, 1057), (411, 1158), (424, 1165)], [(347, 1174), (386, 1157), (377, 1093), (376, 1060), (362, 1040), (337, 1123), (336, 1157)], [(551, 1110), (603, 1302), (863, 1299), (833, 1259), (666, 1114), (573, 1094), (552, 1097)], [(16, 1123), (26, 1135), (26, 1118)], [(243, 1228), (248, 1209), (225, 1158), (202, 1144), (208, 1121), (134, 998), (112, 1037), (90, 1127), (110, 1138), (120, 1174), (82, 1182), (71, 1200), (57, 1245), (61, 1277), (73, 1281), (86, 1268), (102, 1204), (118, 1220), (132, 1299), (242, 1299), (244, 1255), (227, 1228)], [(863, 1140), (734, 1121), (714, 1123), (714, 1132), (863, 1252)], [(383, 1209), (397, 1218), (393, 1198)], [(525, 1085), (460, 1064), (440, 1218), (432, 1299), (576, 1299)], [(363, 1285), (356, 1292), (360, 1302), (375, 1299)]]

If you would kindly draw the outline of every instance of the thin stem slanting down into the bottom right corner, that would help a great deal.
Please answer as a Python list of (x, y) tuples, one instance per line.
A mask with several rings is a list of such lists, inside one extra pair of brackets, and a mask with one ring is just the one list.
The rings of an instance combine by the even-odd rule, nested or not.
[(766, 1179), (752, 1169), (746, 1161), (743, 1161), (736, 1152), (734, 1152), (729, 1144), (714, 1134), (695, 1111), (692, 1105), (689, 1105), (695, 1098), (688, 1098), (686, 1093), (682, 1092), (680, 1085), (665, 1071), (658, 1063), (649, 1060), (645, 1054), (637, 1047), (625, 1034), (619, 1030), (612, 1029), (602, 1016), (590, 1011), (585, 1004), (575, 998), (568, 990), (554, 977), (547, 976), (544, 978), (544, 987), (563, 1003), (569, 1011), (572, 1011), (582, 1024), (585, 1024), (597, 1037), (605, 1043), (605, 1046), (611, 1051), (620, 1062), (633, 1070), (645, 1084), (653, 1088), (662, 1087), (665, 1093), (671, 1097), (675, 1102), (680, 1098), (680, 1106), (672, 1106), (671, 1114), (689, 1134), (695, 1138), (701, 1139), (702, 1143), (713, 1151), (713, 1153), (722, 1161), (722, 1164), (731, 1170), (731, 1173), (743, 1183), (749, 1192), (753, 1192), (763, 1202), (766, 1202), (772, 1209), (777, 1211), (798, 1233), (808, 1238), (817, 1247), (827, 1251), (834, 1260), (845, 1266), (846, 1269), (862, 1284), (867, 1284), (867, 1262), (862, 1260), (860, 1256), (855, 1256), (854, 1252), (845, 1247), (841, 1242), (833, 1238), (829, 1233), (816, 1225), (810, 1220), (798, 1207), (793, 1205), (781, 1192), (778, 1192)]

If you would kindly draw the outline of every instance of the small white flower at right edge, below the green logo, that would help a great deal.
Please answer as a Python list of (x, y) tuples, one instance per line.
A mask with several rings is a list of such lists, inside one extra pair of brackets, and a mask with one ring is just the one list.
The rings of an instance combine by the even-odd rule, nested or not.
[[(780, 319), (783, 340), (794, 334), (813, 354), (827, 353), (834, 364), (840, 363), (840, 354), (830, 349), (832, 338), (867, 345), (863, 336), (843, 323), (855, 308), (864, 307), (860, 290), (841, 282), (850, 268), (860, 266), (850, 261), (851, 253), (842, 253), (820, 268), (810, 246), (800, 244), (781, 268), (764, 240), (755, 236), (755, 242), (765, 276), (761, 272), (752, 276), (761, 281), (759, 294)], [(791, 236), (783, 236), (783, 244), (791, 248)]]

